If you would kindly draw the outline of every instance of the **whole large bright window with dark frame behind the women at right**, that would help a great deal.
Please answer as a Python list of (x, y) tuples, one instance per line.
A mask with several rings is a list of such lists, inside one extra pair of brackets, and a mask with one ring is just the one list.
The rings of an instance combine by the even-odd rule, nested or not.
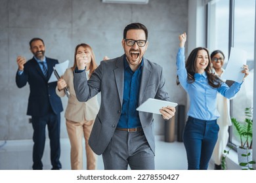
[[(231, 116), (244, 121), (245, 108), (253, 107), (255, 0), (209, 1), (207, 10), (207, 47), (210, 52), (222, 50), (225, 61), (228, 61), (230, 47), (247, 52), (250, 75), (242, 84), (240, 92), (232, 99), (230, 106)], [(231, 127), (230, 143), (238, 146), (236, 137)]]

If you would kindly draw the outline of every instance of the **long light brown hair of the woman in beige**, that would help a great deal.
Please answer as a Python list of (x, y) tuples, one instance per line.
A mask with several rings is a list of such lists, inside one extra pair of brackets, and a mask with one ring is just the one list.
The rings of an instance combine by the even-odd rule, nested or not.
[(91, 54), (91, 64), (90, 64), (90, 68), (89, 68), (90, 69), (89, 77), (91, 77), (91, 75), (93, 74), (93, 72), (95, 71), (95, 69), (97, 67), (97, 64), (96, 64), (96, 60), (95, 60), (95, 53), (93, 52), (93, 48), (91, 48), (91, 46), (89, 46), (89, 44), (85, 44), (85, 43), (77, 44), (77, 46), (75, 47), (74, 65), (71, 69), (72, 69), (72, 71), (74, 71), (75, 67), (77, 67), (75, 56), (76, 56), (76, 54), (77, 54), (76, 52), (80, 46), (83, 46), (83, 48), (89, 50), (89, 52)]

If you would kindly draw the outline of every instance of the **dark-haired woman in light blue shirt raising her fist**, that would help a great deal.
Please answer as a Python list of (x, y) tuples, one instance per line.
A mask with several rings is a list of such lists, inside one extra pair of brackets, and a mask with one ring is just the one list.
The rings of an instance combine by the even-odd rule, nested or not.
[[(192, 50), (185, 63), (184, 45), (186, 33), (179, 35), (177, 54), (178, 83), (190, 98), (188, 120), (183, 132), (183, 141), (188, 159), (188, 169), (206, 170), (218, 138), (219, 112), (216, 108), (217, 92), (226, 98), (233, 97), (242, 83), (234, 82), (230, 88), (212, 73), (207, 48)], [(243, 66), (244, 78), (249, 75), (247, 65)]]

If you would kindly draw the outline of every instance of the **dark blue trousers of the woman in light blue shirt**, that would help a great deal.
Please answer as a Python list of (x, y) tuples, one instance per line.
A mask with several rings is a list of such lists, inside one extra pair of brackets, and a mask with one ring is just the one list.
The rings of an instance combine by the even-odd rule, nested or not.
[(217, 120), (199, 120), (188, 116), (183, 132), (188, 170), (207, 170), (218, 132)]

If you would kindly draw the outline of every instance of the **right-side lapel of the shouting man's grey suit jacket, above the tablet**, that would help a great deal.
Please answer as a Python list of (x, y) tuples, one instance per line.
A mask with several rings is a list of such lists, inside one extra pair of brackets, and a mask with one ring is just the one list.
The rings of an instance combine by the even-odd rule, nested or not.
[(142, 99), (144, 97), (144, 93), (146, 91), (146, 87), (148, 86), (148, 82), (150, 81), (150, 76), (152, 73), (152, 68), (148, 64), (148, 60), (144, 58), (144, 63), (142, 67), (142, 76), (140, 81), (140, 93), (139, 93), (139, 103), (138, 105), (141, 105)]

